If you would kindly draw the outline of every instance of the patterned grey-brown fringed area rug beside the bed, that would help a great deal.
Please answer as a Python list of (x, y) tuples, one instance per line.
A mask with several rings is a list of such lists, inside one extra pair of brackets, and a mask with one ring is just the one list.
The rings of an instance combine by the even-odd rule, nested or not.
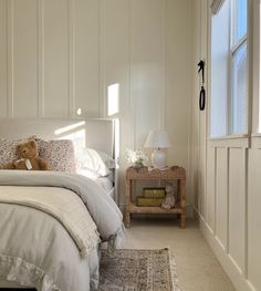
[(102, 251), (98, 291), (180, 291), (169, 250)]

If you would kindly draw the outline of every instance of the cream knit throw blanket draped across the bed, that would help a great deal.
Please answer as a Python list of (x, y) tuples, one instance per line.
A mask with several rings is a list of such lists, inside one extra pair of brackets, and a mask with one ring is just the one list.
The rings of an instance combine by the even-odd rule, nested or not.
[(81, 198), (70, 190), (54, 187), (0, 187), (0, 202), (18, 204), (40, 209), (56, 218), (87, 257), (97, 246), (97, 228)]

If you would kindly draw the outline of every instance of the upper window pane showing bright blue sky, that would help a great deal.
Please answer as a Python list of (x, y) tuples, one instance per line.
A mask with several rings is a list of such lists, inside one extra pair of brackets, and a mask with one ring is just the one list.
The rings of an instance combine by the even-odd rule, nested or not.
[(247, 34), (248, 0), (234, 0), (233, 10), (233, 44)]

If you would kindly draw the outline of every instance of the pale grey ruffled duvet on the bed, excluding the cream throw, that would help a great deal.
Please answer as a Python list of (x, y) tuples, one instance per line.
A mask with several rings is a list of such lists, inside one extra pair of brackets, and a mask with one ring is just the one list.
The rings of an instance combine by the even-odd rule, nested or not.
[[(14, 189), (21, 195), (29, 191), (77, 195), (86, 205), (101, 239), (121, 246), (122, 214), (94, 181), (62, 173), (3, 170), (0, 185), (0, 199), (1, 193), (6, 196)], [(97, 245), (87, 258), (82, 258), (61, 221), (31, 206), (0, 202), (0, 276), (43, 291), (86, 291), (97, 287)]]

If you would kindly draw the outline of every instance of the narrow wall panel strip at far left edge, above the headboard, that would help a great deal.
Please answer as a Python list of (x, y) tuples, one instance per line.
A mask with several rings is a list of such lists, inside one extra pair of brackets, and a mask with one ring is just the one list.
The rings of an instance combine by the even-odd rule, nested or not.
[(8, 58), (7, 58), (7, 7), (8, 0), (0, 0), (0, 116), (8, 114)]

